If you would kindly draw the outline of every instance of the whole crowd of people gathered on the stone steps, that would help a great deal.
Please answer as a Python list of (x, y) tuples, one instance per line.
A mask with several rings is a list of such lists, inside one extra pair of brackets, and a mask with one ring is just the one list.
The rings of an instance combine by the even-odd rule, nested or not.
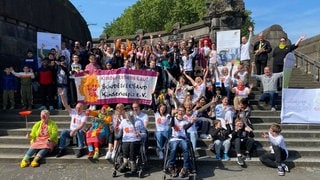
[[(246, 37), (241, 39), (240, 64), (232, 60), (228, 63), (229, 66), (220, 63), (216, 44), (210, 38), (199, 40), (198, 45), (196, 45), (193, 36), (190, 36), (187, 41), (180, 41), (180, 43), (171, 41), (165, 43), (159, 35), (159, 40), (155, 44), (153, 36), (150, 36), (149, 43), (145, 44), (142, 43), (142, 37), (139, 37), (137, 43), (132, 43), (129, 40), (123, 43), (118, 39), (115, 41), (114, 47), (101, 41), (94, 48), (92, 48), (90, 42), (83, 48), (79, 42), (75, 42), (72, 46), (73, 49), (68, 51), (64, 44), (61, 49), (59, 47), (57, 47), (57, 50), (53, 48), (48, 56), (44, 56), (41, 50), (42, 66), (38, 69), (34, 65), (35, 61), (30, 61), (32, 59), (32, 56), (30, 56), (28, 61), (24, 61), (23, 73), (16, 73), (12, 68), (8, 68), (6, 71), (8, 71), (7, 74), (21, 78), (21, 94), (23, 94), (22, 91), (25, 92), (28, 89), (22, 88), (22, 80), (28, 82), (30, 88), (32, 88), (33, 79), (38, 80), (39, 91), (43, 100), (39, 110), (53, 110), (56, 106), (58, 109), (64, 108), (69, 112), (71, 116), (70, 128), (63, 130), (60, 134), (57, 157), (66, 153), (66, 139), (73, 136), (77, 136), (78, 147), (80, 148), (77, 157), (83, 156), (85, 153), (85, 138), (92, 137), (92, 133), (88, 134), (88, 131), (96, 130), (94, 128), (85, 130), (90, 113), (84, 111), (85, 105), (76, 103), (73, 75), (82, 71), (95, 73), (99, 70), (124, 68), (155, 71), (158, 74), (156, 88), (152, 92), (152, 105), (143, 105), (142, 108), (153, 109), (155, 112), (155, 137), (160, 159), (163, 159), (164, 156), (165, 142), (170, 144), (169, 172), (175, 174), (177, 172), (173, 166), (177, 147), (181, 146), (183, 156), (187, 157), (190, 155), (187, 151), (187, 143), (190, 143), (195, 151), (198, 138), (213, 141), (215, 158), (219, 160), (221, 158), (229, 159), (228, 151), (230, 146), (233, 145), (238, 164), (243, 165), (244, 160), (250, 159), (254, 148), (254, 129), (250, 122), (248, 103), (253, 84), (249, 84), (248, 77), (251, 74), (251, 77), (255, 77), (262, 83), (264, 92), (260, 100), (269, 99), (271, 110), (275, 111), (274, 99), (277, 92), (277, 80), (282, 76), (280, 66), (283, 64), (283, 58), (288, 52), (297, 48), (300, 41), (304, 39), (304, 36), (301, 36), (295, 44), (288, 46), (283, 42), (286, 39), (281, 38), (279, 47), (274, 48), (273, 51), (274, 63), (279, 65), (277, 71), (280, 72), (271, 73), (266, 64), (268, 53), (271, 52), (272, 48), (270, 43), (264, 39), (263, 34), (259, 34), (259, 41), (253, 46), (255, 60), (250, 63), (251, 27), (249, 27), (249, 32), (248, 39)], [(234, 66), (237, 66), (236, 71), (232, 73)], [(273, 71), (275, 71), (275, 68), (273, 68)], [(58, 99), (56, 104), (54, 103), (55, 89), (57, 89)], [(26, 98), (22, 98), (24, 109), (32, 106), (32, 93), (30, 95), (30, 91), (28, 92), (24, 93), (28, 94), (25, 95)], [(67, 96), (68, 93), (71, 96)], [(68, 97), (71, 98), (68, 99)], [(6, 104), (4, 103), (4, 105)], [(90, 105), (88, 109), (94, 111), (96, 107)], [(115, 152), (113, 150), (117, 144), (117, 139), (122, 138), (124, 152), (124, 165), (120, 168), (122, 170), (128, 163), (135, 167), (134, 159), (136, 158), (137, 147), (140, 144), (137, 142), (147, 139), (148, 134), (149, 118), (140, 111), (140, 104), (133, 103), (132, 110), (133, 114), (126, 111), (123, 104), (118, 104), (111, 115), (111, 120), (110, 118), (106, 120), (108, 119), (105, 118), (106, 110), (101, 109), (96, 118), (102, 121), (99, 121), (100, 123), (97, 125), (92, 125), (92, 127), (100, 127), (98, 134), (104, 134), (101, 138), (108, 143), (106, 159), (114, 157)], [(41, 113), (43, 112), (46, 113), (47, 118), (41, 116), (41, 121), (44, 122), (43, 124), (47, 124), (49, 111), (42, 111)], [(110, 117), (110, 114), (108, 115)], [(43, 131), (48, 132), (48, 127), (46, 128), (43, 128)], [(275, 161), (279, 165), (277, 166), (279, 175), (280, 169), (287, 169), (283, 161), (288, 155), (283, 138), (277, 138), (282, 137), (279, 134), (280, 131), (279, 125), (273, 125), (269, 134), (264, 136), (269, 137), (271, 143), (280, 147), (280, 151), (276, 147), (273, 148), (275, 153), (284, 150), (286, 154), (261, 158), (262, 162), (266, 162), (270, 166), (274, 166), (274, 164), (268, 161)], [(200, 134), (198, 134), (199, 132)], [(88, 151), (90, 157), (97, 158), (101, 139), (96, 138), (95, 133), (97, 132), (93, 133), (95, 138), (91, 139), (92, 144), (88, 145), (90, 147)], [(28, 135), (29, 138), (33, 139), (38, 136), (42, 137), (43, 134)], [(98, 143), (96, 139), (98, 139)], [(274, 139), (281, 139), (281, 145), (277, 144)], [(50, 142), (55, 141), (50, 140)], [(244, 147), (244, 149), (241, 147)], [(47, 146), (41, 146), (41, 148), (47, 149), (46, 152), (50, 150)], [(34, 148), (31, 147), (31, 149)], [(36, 157), (43, 157), (45, 153), (38, 153)], [(26, 154), (21, 162), (21, 167), (26, 167), (29, 164), (30, 154)], [(39, 158), (34, 160), (38, 161)], [(179, 173), (182, 177), (187, 174), (190, 168), (189, 158), (184, 158), (184, 160), (183, 168)], [(279, 168), (280, 166), (281, 168)], [(133, 168), (133, 171), (135, 171), (135, 168)]]

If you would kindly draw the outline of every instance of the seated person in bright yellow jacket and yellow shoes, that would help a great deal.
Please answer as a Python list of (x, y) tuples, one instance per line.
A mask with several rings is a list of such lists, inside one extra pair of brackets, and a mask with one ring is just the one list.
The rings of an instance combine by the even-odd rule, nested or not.
[[(40, 118), (41, 120), (33, 125), (31, 133), (26, 135), (31, 140), (31, 145), (20, 163), (21, 168), (29, 165), (38, 167), (40, 165), (39, 160), (46, 156), (48, 152), (51, 152), (58, 143), (58, 126), (50, 119), (50, 112), (42, 110)], [(36, 156), (30, 163), (30, 159), (34, 154)]]

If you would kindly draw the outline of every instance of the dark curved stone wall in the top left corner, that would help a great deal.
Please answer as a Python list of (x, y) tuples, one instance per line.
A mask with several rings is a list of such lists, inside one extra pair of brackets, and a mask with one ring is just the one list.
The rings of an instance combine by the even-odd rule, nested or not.
[(62, 34), (64, 40), (91, 40), (87, 23), (66, 0), (0, 1), (0, 69), (19, 66), (27, 49), (36, 53), (37, 32)]

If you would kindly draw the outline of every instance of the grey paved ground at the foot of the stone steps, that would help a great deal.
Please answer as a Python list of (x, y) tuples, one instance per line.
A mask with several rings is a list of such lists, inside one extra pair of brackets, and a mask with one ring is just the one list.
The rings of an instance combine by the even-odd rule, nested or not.
[[(38, 168), (20, 168), (16, 163), (0, 163), (0, 179), (52, 179), (52, 180), (100, 180), (113, 179), (113, 166), (111, 164), (42, 164)], [(117, 173), (115, 179), (138, 179), (137, 176), (124, 175)], [(164, 173), (160, 165), (151, 166), (144, 173), (143, 179), (163, 179)], [(198, 167), (197, 179), (223, 179), (223, 180), (273, 180), (273, 179), (290, 179), (290, 180), (316, 180), (320, 177), (320, 167), (317, 168), (294, 168), (284, 177), (278, 176), (276, 169), (266, 168), (263, 166), (248, 166), (242, 168), (239, 166), (232, 167), (214, 167), (213, 165), (202, 165)], [(168, 178), (168, 176), (167, 176)]]

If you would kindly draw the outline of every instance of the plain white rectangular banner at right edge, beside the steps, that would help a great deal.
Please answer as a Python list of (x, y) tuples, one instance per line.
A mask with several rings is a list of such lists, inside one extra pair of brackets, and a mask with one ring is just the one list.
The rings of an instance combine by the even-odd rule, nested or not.
[(281, 123), (319, 124), (320, 89), (282, 89)]

